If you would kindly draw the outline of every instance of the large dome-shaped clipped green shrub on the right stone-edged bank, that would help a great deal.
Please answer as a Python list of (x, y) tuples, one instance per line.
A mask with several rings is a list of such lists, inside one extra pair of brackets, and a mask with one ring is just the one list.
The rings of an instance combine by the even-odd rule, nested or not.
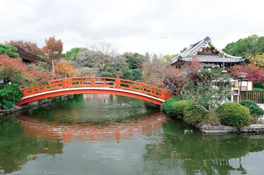
[(250, 124), (250, 111), (247, 107), (235, 102), (225, 102), (217, 109), (218, 117), (222, 124), (242, 127)]

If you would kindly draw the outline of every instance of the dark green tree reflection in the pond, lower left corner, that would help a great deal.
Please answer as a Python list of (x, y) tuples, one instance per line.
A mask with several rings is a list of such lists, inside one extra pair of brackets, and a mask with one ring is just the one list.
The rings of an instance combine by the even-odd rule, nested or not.
[(27, 161), (36, 159), (36, 154), (61, 154), (63, 147), (54, 137), (29, 135), (19, 123), (5, 121), (0, 124), (0, 174), (18, 171)]

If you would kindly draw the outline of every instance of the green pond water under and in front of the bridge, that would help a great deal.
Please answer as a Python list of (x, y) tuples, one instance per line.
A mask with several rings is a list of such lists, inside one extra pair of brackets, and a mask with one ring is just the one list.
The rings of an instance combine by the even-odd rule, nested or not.
[(201, 134), (116, 95), (78, 95), (0, 120), (0, 174), (264, 174), (263, 149), (264, 135)]

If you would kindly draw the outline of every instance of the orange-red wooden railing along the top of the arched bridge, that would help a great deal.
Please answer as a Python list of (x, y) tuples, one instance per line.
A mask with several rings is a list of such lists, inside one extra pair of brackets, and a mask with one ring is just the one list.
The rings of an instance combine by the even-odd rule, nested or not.
[(49, 92), (52, 90), (61, 90), (66, 88), (114, 88), (140, 92), (153, 97), (158, 97), (162, 100), (166, 100), (171, 97), (170, 92), (153, 85), (119, 78), (104, 77), (77, 77), (50, 80), (48, 85), (23, 88), (21, 90), (24, 92), (24, 97), (27, 97), (41, 92)]

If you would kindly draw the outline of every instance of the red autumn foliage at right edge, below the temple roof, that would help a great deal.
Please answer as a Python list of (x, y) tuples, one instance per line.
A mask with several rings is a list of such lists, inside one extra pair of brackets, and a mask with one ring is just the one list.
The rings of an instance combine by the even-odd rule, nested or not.
[(253, 64), (234, 65), (228, 69), (228, 72), (235, 77), (238, 76), (238, 73), (246, 73), (246, 79), (254, 80), (255, 83), (264, 83), (264, 70), (256, 68)]

